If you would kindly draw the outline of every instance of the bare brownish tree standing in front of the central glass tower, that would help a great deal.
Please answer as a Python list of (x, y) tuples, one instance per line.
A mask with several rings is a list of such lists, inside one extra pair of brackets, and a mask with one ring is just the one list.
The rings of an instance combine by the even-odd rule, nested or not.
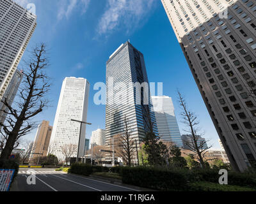
[(124, 130), (123, 133), (116, 136), (117, 144), (115, 150), (127, 166), (131, 166), (132, 158), (136, 152), (135, 140), (132, 138), (132, 129), (129, 127), (129, 121), (124, 116)]

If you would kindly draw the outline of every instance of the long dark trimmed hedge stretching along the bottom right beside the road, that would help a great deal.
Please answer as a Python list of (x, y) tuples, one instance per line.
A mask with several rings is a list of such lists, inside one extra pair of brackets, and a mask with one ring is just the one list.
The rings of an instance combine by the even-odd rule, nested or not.
[[(122, 177), (125, 184), (131, 184), (140, 187), (147, 187), (152, 189), (158, 189), (160, 191), (190, 191), (191, 187), (196, 189), (207, 189), (206, 184), (209, 184), (209, 189), (216, 191), (219, 184), (218, 170), (214, 169), (157, 169), (149, 167), (133, 167), (122, 168)], [(200, 182), (200, 184), (198, 184)], [(216, 186), (212, 186), (216, 184)], [(192, 185), (192, 186), (191, 186)], [(199, 186), (198, 186), (199, 185)], [(207, 185), (206, 185), (207, 186)], [(256, 189), (256, 175), (253, 173), (238, 173), (235, 171), (228, 171), (228, 186), (233, 187), (237, 191), (246, 188)], [(238, 188), (239, 186), (240, 188)], [(225, 188), (225, 189), (223, 189)], [(210, 191), (209, 190), (209, 191)], [(228, 190), (228, 187), (220, 187), (220, 191)], [(230, 190), (232, 191), (232, 189)]]

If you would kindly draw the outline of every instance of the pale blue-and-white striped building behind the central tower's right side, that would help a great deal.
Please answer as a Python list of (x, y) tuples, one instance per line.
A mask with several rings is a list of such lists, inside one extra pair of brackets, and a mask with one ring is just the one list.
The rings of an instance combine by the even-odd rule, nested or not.
[(158, 134), (164, 142), (172, 142), (182, 147), (179, 126), (175, 117), (172, 98), (168, 96), (152, 96), (152, 104), (156, 117)]

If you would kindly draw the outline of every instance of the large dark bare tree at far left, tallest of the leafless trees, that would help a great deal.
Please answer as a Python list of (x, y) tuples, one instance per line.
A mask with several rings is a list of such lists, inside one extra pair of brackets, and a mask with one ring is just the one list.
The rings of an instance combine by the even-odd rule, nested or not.
[(0, 111), (6, 113), (7, 117), (5, 122), (0, 122), (0, 134), (5, 140), (0, 159), (8, 159), (19, 138), (36, 128), (35, 122), (31, 119), (47, 106), (45, 94), (49, 91), (50, 85), (44, 72), (48, 66), (44, 43), (35, 47), (25, 64), (27, 68), (23, 72), (19, 99), (15, 101), (14, 106), (10, 106), (6, 98), (1, 99), (7, 110)]

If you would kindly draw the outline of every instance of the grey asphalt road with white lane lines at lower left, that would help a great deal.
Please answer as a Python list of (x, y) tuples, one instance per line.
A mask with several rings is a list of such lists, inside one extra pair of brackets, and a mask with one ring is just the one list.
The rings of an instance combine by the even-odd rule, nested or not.
[[(33, 174), (32, 174), (33, 173)], [(27, 180), (35, 184), (28, 184)], [(109, 184), (95, 179), (71, 175), (54, 169), (19, 170), (10, 191), (138, 191), (131, 187)]]

